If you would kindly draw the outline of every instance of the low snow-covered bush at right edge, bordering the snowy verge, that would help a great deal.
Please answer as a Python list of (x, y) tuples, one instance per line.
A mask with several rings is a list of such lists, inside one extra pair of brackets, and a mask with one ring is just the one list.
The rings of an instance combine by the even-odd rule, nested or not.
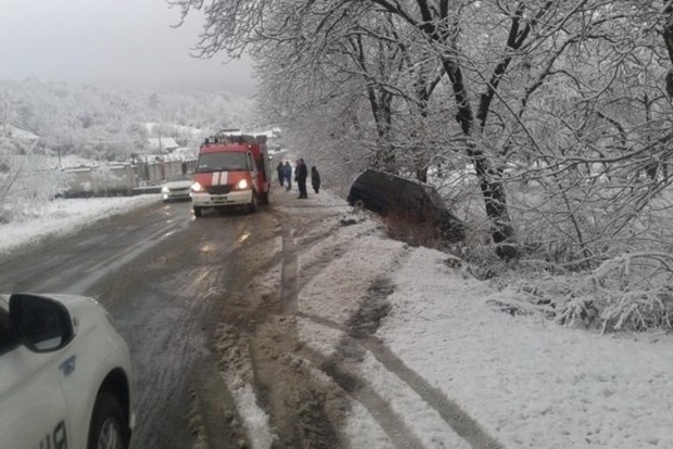
[[(511, 267), (510, 267), (511, 268)], [(498, 305), (518, 312), (544, 312), (563, 325), (602, 332), (673, 330), (673, 256), (622, 254), (587, 272), (550, 274), (519, 266), (493, 283), (505, 293)], [(528, 299), (521, 303), (521, 298)]]

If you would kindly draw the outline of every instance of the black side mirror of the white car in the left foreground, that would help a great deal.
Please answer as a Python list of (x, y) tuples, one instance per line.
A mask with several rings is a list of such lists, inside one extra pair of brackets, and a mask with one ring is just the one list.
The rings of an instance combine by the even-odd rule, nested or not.
[(51, 352), (74, 336), (67, 308), (51, 298), (28, 294), (10, 297), (10, 325), (21, 343), (34, 352)]

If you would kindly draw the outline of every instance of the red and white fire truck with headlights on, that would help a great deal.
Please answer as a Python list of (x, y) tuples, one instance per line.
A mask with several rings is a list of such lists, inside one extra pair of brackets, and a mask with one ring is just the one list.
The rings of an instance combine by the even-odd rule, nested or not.
[(199, 151), (191, 189), (194, 216), (212, 207), (268, 204), (271, 170), (266, 136), (220, 133), (207, 138)]

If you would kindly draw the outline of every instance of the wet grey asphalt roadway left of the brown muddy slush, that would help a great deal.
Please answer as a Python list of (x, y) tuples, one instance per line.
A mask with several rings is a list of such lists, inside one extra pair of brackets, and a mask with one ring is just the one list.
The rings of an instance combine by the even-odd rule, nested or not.
[(237, 235), (247, 232), (246, 220), (194, 222), (189, 203), (156, 202), (16, 252), (0, 265), (0, 285), (98, 298), (131, 349), (138, 416), (132, 446), (190, 447), (194, 385), (220, 386), (206, 323), (228, 284), (227, 255), (239, 247)]

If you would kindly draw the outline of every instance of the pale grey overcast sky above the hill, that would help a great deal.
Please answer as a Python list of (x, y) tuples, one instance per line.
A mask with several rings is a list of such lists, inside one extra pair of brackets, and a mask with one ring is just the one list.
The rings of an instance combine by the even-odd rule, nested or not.
[[(164, 0), (1, 0), (0, 77), (250, 93), (250, 63), (189, 55), (200, 17), (181, 28)], [(189, 18), (189, 17), (188, 17)]]

